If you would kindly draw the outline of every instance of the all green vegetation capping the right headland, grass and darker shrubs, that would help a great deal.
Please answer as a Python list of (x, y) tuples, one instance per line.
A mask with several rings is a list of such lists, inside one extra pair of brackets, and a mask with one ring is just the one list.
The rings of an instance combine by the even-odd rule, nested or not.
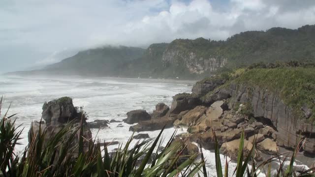
[[(308, 121), (315, 120), (315, 63), (313, 62), (276, 62), (254, 63), (248, 67), (223, 72), (215, 77), (206, 78), (200, 82), (208, 82), (224, 78), (227, 82), (218, 87), (227, 87), (232, 83), (273, 92), (291, 107), (298, 117), (304, 117), (301, 108), (312, 111)], [(204, 97), (211, 95), (210, 91)]]

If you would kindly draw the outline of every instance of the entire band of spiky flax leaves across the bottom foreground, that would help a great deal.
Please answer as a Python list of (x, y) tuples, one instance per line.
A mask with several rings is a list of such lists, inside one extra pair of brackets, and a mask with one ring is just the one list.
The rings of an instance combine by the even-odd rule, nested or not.
[[(0, 108), (1, 106), (2, 99), (0, 100)], [(180, 161), (184, 157), (182, 152), (185, 147), (181, 143), (173, 142), (176, 132), (166, 147), (161, 151), (156, 150), (154, 154), (155, 148), (160, 149), (161, 143), (158, 144), (158, 141), (163, 129), (154, 142), (153, 139), (138, 141), (134, 147), (131, 147), (130, 143), (133, 141), (131, 135), (124, 147), (120, 145), (118, 150), (109, 153), (106, 143), (104, 143), (104, 147), (101, 147), (100, 142), (95, 140), (90, 140), (88, 149), (84, 150), (82, 136), (79, 137), (78, 144), (74, 143), (75, 134), (81, 135), (83, 132), (82, 124), (79, 127), (72, 127), (71, 122), (65, 124), (55, 136), (51, 137), (47, 144), (44, 143), (45, 136), (48, 136), (46, 130), (39, 126), (32, 142), (20, 156), (15, 152), (15, 146), (19, 144), (23, 130), (18, 130), (18, 127), (15, 127), (15, 121), (11, 120), (14, 116), (8, 116), (6, 112), (0, 120), (0, 176), (3, 177), (175, 177), (179, 175), (193, 177), (195, 174), (198, 177), (207, 177), (209, 175), (205, 168), (206, 159), (203, 157), (202, 150), (200, 161), (196, 160), (198, 154), (186, 155), (186, 158)], [(69, 135), (71, 129), (75, 129), (75, 131)], [(280, 166), (275, 174), (277, 177), (315, 176), (312, 172), (314, 169), (303, 172), (294, 170), (293, 162), (299, 148), (294, 151), (287, 168), (284, 168), (286, 158), (282, 160), (281, 154), (256, 166), (253, 160), (255, 146), (245, 156), (244, 132), (240, 138), (237, 167), (234, 172), (230, 172), (228, 171), (229, 162), (227, 160), (225, 167), (221, 165), (216, 136), (214, 136), (214, 141), (218, 177), (228, 177), (228, 174), (235, 174), (236, 177), (257, 177), (261, 173), (265, 174), (266, 177), (272, 177), (270, 163), (276, 160), (280, 161)], [(74, 154), (78, 155), (75, 156)], [(140, 159), (141, 156), (144, 158)], [(151, 162), (149, 161), (150, 158)], [(266, 166), (268, 170), (261, 171), (261, 168)], [(223, 168), (224, 173), (222, 172)]]

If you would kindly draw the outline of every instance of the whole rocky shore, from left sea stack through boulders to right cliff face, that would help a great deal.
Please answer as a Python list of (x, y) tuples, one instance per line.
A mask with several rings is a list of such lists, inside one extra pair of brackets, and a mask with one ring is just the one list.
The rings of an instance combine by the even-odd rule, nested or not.
[[(305, 121), (313, 114), (310, 109), (301, 108), (305, 113), (305, 119), (299, 119), (275, 92), (248, 85), (224, 85), (225, 83), (222, 78), (199, 81), (193, 86), (191, 93), (173, 96), (170, 107), (158, 103), (152, 113), (146, 110), (133, 110), (126, 114), (127, 118), (123, 121), (126, 124), (137, 123), (129, 127), (129, 131), (132, 132), (155, 131), (164, 126), (185, 127), (187, 132), (177, 135), (176, 140), (185, 142), (187, 153), (198, 151), (196, 144), (213, 150), (215, 134), (221, 146), (221, 153), (232, 160), (237, 158), (242, 131), (246, 137), (245, 155), (255, 144), (255, 160), (258, 162), (284, 150), (292, 150), (298, 143), (302, 143), (298, 159), (309, 167), (314, 165), (315, 127)], [(45, 103), (42, 116), (45, 123), (32, 122), (29, 141), (39, 125), (41, 128), (51, 130), (48, 133), (53, 134), (53, 130), (62, 127), (65, 122), (74, 121), (78, 124), (82, 119), (85, 127), (84, 139), (88, 144), (92, 139), (90, 128), (104, 128), (111, 122), (119, 122), (117, 120), (87, 122), (85, 113), (74, 107), (72, 99), (68, 97)], [(145, 138), (150, 137), (148, 134), (136, 136), (136, 139)]]

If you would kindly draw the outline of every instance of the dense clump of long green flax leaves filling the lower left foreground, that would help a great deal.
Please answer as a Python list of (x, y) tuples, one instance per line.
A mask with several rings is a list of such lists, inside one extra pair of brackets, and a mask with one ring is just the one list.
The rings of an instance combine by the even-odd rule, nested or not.
[[(161, 141), (159, 144), (158, 141), (164, 128), (155, 140), (138, 141), (130, 147), (132, 135), (124, 147), (120, 145), (112, 153), (108, 152), (106, 143), (102, 146), (96, 140), (89, 140), (86, 150), (82, 120), (78, 127), (73, 122), (65, 124), (48, 142), (44, 140), (50, 135), (39, 126), (19, 159), (14, 149), (22, 130), (17, 130), (15, 121), (10, 120), (13, 116), (5, 114), (0, 124), (0, 170), (4, 177), (192, 177), (204, 164), (203, 160), (196, 161), (198, 154), (182, 153), (186, 148), (184, 143), (173, 142), (176, 132), (159, 151)], [(76, 134), (80, 135), (78, 143), (74, 143)]]

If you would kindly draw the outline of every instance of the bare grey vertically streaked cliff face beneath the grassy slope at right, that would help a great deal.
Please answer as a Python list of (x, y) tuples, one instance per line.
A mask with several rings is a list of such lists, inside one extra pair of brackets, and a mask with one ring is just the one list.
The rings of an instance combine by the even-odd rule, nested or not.
[(235, 84), (220, 89), (216, 94), (222, 93), (227, 95), (229, 108), (249, 103), (248, 109), (251, 110), (253, 117), (270, 120), (278, 131), (277, 142), (280, 146), (294, 148), (301, 139), (306, 139), (304, 150), (315, 153), (315, 144), (311, 136), (315, 133), (315, 126), (306, 123), (306, 118), (297, 117), (277, 93)]

